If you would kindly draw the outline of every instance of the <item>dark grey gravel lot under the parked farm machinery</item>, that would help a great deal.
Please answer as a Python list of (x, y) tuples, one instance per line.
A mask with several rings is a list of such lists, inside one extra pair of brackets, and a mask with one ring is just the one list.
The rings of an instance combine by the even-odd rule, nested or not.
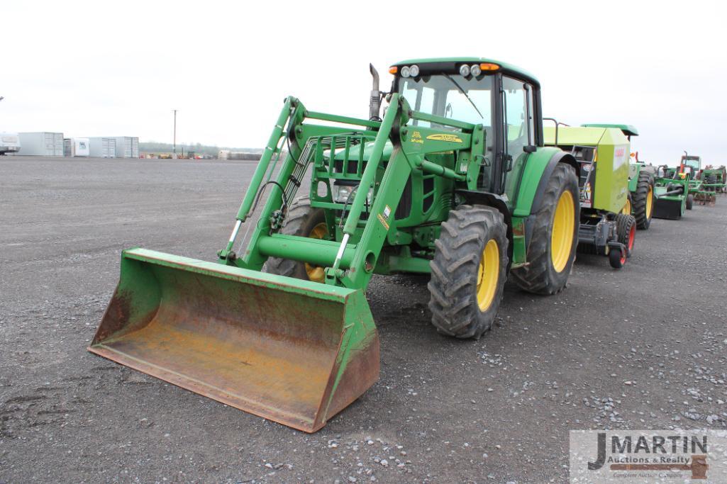
[(253, 169), (0, 158), (0, 483), (561, 483), (570, 429), (727, 427), (727, 198), (621, 271), (507, 286), (478, 342), (430, 326), (425, 278), (374, 278), (381, 378), (314, 435), (87, 352), (121, 249), (214, 259)]

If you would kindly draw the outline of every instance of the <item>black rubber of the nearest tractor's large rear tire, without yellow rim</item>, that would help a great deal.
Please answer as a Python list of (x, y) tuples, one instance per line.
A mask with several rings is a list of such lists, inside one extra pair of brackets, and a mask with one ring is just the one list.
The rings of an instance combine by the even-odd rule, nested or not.
[[(570, 193), (573, 201), (573, 234), (569, 252), (565, 254), (567, 259), (553, 257), (553, 227), (555, 223), (555, 211), (561, 203), (561, 198)], [(568, 282), (568, 276), (573, 267), (576, 247), (578, 246), (578, 227), (580, 224), (580, 203), (578, 190), (578, 177), (572, 166), (559, 163), (555, 166), (553, 174), (547, 181), (545, 194), (540, 210), (535, 214), (533, 235), (528, 249), (528, 264), (510, 271), (512, 281), (523, 291), (534, 294), (556, 294), (561, 291)], [(560, 226), (559, 222), (559, 226)], [(556, 248), (557, 250), (558, 248)], [(560, 249), (564, 249), (563, 246)], [(561, 262), (555, 267), (554, 259)], [(562, 264), (562, 260), (566, 260)]]

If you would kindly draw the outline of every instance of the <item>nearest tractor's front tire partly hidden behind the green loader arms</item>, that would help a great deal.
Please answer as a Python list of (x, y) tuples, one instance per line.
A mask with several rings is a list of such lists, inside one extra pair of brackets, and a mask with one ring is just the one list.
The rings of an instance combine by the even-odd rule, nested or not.
[[(307, 196), (298, 198), (290, 206), (286, 225), (281, 229), (280, 233), (330, 239), (324, 209), (314, 209), (310, 206), (310, 198)], [(322, 234), (325, 235), (316, 236)], [(286, 275), (289, 278), (303, 279), (304, 281), (324, 281), (323, 267), (311, 266), (297, 260), (269, 257), (262, 270), (266, 273)]]

